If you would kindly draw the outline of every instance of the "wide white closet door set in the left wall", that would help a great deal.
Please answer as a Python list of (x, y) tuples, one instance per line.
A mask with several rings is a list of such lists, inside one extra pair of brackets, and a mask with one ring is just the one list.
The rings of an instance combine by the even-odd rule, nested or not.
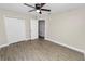
[(26, 40), (25, 21), (15, 17), (5, 17), (5, 31), (9, 43)]

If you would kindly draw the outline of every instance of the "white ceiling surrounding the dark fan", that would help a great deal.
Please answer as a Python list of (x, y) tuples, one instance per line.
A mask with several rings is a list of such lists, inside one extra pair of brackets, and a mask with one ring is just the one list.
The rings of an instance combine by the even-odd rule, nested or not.
[[(34, 3), (28, 3), (28, 4), (34, 5)], [(85, 8), (85, 3), (47, 3), (43, 8), (51, 9), (51, 13), (59, 13), (69, 10)], [(25, 14), (29, 13), (28, 12), (29, 10), (32, 10), (32, 8), (26, 7), (23, 3), (0, 3), (0, 9), (15, 11)], [(48, 12), (43, 12), (43, 14), (47, 13)], [(34, 11), (31, 12), (31, 14), (38, 14), (38, 13)]]

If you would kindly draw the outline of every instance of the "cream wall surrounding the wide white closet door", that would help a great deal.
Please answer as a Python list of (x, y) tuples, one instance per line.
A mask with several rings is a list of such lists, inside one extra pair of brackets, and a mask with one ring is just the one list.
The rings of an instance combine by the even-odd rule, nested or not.
[(0, 10), (0, 47), (8, 44), (5, 27), (4, 27), (4, 16), (24, 18), (25, 26), (26, 26), (26, 38), (30, 39), (30, 17), (31, 15), (29, 14), (26, 15), (26, 14), (13, 12), (13, 11)]

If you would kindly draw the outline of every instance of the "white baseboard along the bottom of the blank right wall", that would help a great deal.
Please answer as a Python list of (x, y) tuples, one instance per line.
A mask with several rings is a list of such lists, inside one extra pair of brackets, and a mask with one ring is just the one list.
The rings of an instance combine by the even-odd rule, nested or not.
[(58, 42), (58, 41), (53, 40), (53, 39), (49, 39), (49, 38), (45, 38), (45, 40), (49, 40), (49, 41), (52, 41), (52, 42), (58, 43), (58, 44), (60, 44), (60, 46), (63, 46), (63, 47), (66, 47), (66, 48), (69, 48), (69, 49), (72, 49), (72, 50), (75, 50), (75, 51), (77, 51), (77, 52), (82, 52), (82, 53), (85, 54), (85, 51), (83, 51), (83, 50), (81, 50), (81, 49), (77, 49), (77, 48), (74, 48), (74, 47), (71, 47), (71, 46), (68, 46), (68, 44)]

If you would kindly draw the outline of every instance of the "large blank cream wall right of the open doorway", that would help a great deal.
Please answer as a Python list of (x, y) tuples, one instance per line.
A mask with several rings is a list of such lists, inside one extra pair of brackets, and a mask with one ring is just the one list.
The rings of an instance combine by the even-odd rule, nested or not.
[(85, 51), (85, 9), (52, 14), (46, 38)]

